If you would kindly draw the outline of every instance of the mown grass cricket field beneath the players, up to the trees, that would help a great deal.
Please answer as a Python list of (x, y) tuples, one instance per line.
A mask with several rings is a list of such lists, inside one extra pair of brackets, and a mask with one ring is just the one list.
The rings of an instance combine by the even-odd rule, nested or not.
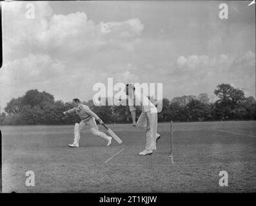
[[(74, 126), (1, 126), (3, 192), (255, 192), (255, 126), (255, 121), (174, 122), (175, 164), (169, 157), (170, 123), (158, 125), (162, 138), (151, 156), (137, 154), (145, 135), (130, 124), (109, 125), (121, 145), (113, 140), (106, 147), (84, 130), (79, 148), (67, 146)], [(228, 187), (219, 185), (223, 170)], [(34, 171), (34, 187), (25, 185), (26, 171)]]

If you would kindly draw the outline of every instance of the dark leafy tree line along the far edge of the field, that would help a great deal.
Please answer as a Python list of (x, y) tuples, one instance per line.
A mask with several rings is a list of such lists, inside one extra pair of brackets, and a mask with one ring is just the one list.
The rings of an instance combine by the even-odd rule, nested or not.
[[(230, 84), (219, 84), (214, 90), (217, 97), (210, 102), (206, 93), (198, 97), (183, 95), (172, 100), (162, 99), (159, 122), (170, 120), (179, 122), (212, 120), (255, 120), (256, 101), (245, 97), (244, 91)], [(128, 106), (95, 106), (93, 100), (83, 102), (89, 106), (105, 123), (130, 123), (132, 118)], [(63, 111), (72, 108), (71, 102), (54, 100), (54, 95), (37, 89), (26, 91), (23, 97), (12, 98), (0, 113), (0, 125), (62, 125), (79, 122), (75, 114), (63, 116)], [(137, 111), (139, 117), (140, 111)]]

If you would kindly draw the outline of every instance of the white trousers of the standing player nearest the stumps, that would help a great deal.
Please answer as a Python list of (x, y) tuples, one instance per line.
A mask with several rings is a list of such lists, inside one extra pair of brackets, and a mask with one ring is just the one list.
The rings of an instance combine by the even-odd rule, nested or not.
[(150, 113), (150, 128), (148, 128), (148, 121), (146, 118), (146, 113), (141, 113), (139, 119), (137, 120), (137, 127), (144, 129), (146, 131), (146, 150), (156, 150), (156, 140), (157, 140), (157, 112), (148, 111)]

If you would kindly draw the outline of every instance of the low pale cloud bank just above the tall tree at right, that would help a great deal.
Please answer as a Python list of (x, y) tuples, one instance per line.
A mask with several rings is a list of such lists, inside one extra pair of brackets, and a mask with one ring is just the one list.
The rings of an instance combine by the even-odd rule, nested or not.
[[(255, 95), (255, 53), (248, 51), (241, 57), (221, 54), (218, 57), (207, 55), (180, 56), (176, 61), (177, 69), (173, 84), (178, 89), (213, 93), (217, 84), (231, 84), (246, 89), (246, 95)], [(253, 87), (254, 86), (254, 87)], [(177, 88), (177, 87), (176, 87)], [(195, 94), (198, 95), (198, 94)]]

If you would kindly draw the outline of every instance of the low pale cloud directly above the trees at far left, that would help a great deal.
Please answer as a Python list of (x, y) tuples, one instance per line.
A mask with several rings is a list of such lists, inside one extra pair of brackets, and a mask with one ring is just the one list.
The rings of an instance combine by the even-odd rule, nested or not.
[(29, 89), (42, 91), (59, 84), (64, 64), (48, 55), (28, 57), (4, 62), (0, 69), (0, 106), (4, 108), (11, 98), (21, 97)]

